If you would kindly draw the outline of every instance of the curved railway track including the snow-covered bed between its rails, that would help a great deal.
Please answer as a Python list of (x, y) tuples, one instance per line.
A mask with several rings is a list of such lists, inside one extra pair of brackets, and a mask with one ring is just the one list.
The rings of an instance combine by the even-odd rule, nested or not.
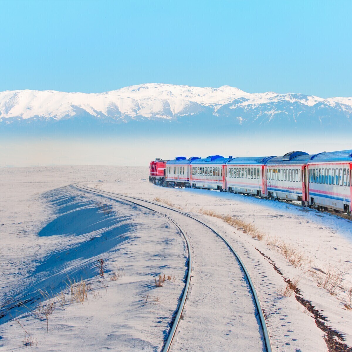
[[(187, 281), (178, 312), (162, 349), (163, 352), (169, 350), (218, 351), (219, 348), (222, 351), (226, 351), (228, 350), (226, 344), (232, 346), (231, 350), (235, 348), (237, 351), (272, 351), (264, 313), (250, 275), (237, 252), (220, 233), (182, 210), (137, 197), (90, 188), (82, 184), (77, 185), (77, 187), (112, 199), (117, 198), (129, 201), (153, 210), (172, 221), (185, 237), (189, 251)], [(155, 207), (158, 207), (159, 210), (161, 208), (164, 209), (163, 213), (156, 210)], [(188, 229), (191, 230), (185, 231), (181, 229), (180, 221), (173, 219), (168, 213), (170, 211), (174, 216), (176, 214), (182, 215), (182, 224), (188, 226)], [(234, 254), (233, 259), (238, 264), (237, 268), (231, 258), (226, 257), (226, 263), (218, 262), (218, 257), (226, 256), (226, 254), (215, 239), (210, 238), (209, 240), (207, 231), (216, 234), (216, 237), (226, 244), (227, 248)], [(189, 240), (190, 237), (191, 240)], [(202, 247), (202, 251), (196, 252), (193, 256), (196, 267), (193, 281), (196, 281), (196, 283), (191, 284), (191, 290), (194, 293), (191, 297), (187, 297), (190, 287), (192, 252), (197, 251), (199, 247)], [(222, 270), (220, 274), (219, 271), (218, 274), (215, 274), (218, 266), (223, 266)], [(238, 275), (236, 276), (239, 272), (242, 278), (239, 278)], [(208, 282), (203, 282), (207, 280)], [(247, 286), (247, 290), (245, 286)], [(250, 295), (248, 295), (248, 289)], [(186, 314), (182, 317), (186, 298), (188, 298), (189, 303), (187, 304)], [(227, 302), (224, 302), (225, 300)], [(250, 307), (250, 301), (254, 309)], [(201, 307), (205, 313), (200, 312)], [(257, 329), (254, 326), (254, 321), (257, 324)], [(177, 329), (177, 327), (180, 328)], [(227, 330), (225, 331), (225, 329)], [(175, 339), (176, 336), (177, 338)]]

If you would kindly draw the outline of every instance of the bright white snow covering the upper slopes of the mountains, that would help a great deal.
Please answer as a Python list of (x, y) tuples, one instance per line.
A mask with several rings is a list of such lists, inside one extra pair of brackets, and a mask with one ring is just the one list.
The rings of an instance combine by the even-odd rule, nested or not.
[(123, 117), (170, 119), (181, 115), (200, 113), (210, 107), (215, 113), (220, 107), (232, 103), (232, 108), (256, 106), (287, 101), (314, 106), (318, 102), (334, 105), (339, 102), (352, 106), (352, 98), (328, 98), (303, 94), (246, 93), (230, 86), (219, 88), (177, 86), (147, 83), (105, 93), (65, 93), (54, 90), (14, 90), (0, 92), (2, 119), (39, 117), (60, 120), (75, 116), (81, 108), (92, 116), (113, 119)]

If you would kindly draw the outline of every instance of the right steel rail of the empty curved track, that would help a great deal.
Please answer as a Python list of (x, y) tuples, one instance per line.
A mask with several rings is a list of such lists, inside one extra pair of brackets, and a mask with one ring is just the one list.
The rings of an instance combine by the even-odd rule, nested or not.
[[(86, 186), (87, 187), (87, 186)], [(90, 187), (87, 187), (89, 188), (90, 190), (95, 190), (94, 188), (90, 188)], [(212, 227), (210, 227), (209, 225), (205, 224), (205, 222), (199, 220), (199, 219), (196, 219), (194, 218), (193, 216), (187, 214), (187, 213), (184, 213), (182, 212), (181, 210), (178, 210), (178, 209), (174, 209), (174, 208), (171, 208), (169, 206), (166, 206), (166, 205), (161, 205), (161, 204), (158, 204), (156, 202), (152, 202), (152, 201), (147, 201), (147, 200), (144, 200), (144, 199), (140, 199), (140, 198), (136, 198), (136, 197), (132, 197), (132, 196), (127, 196), (127, 195), (123, 195), (123, 194), (119, 194), (119, 193), (113, 193), (113, 192), (109, 192), (109, 191), (101, 191), (103, 193), (108, 193), (108, 194), (113, 194), (113, 195), (118, 195), (118, 196), (122, 196), (122, 197), (127, 197), (127, 198), (131, 198), (131, 199), (134, 199), (134, 200), (139, 200), (139, 201), (142, 201), (142, 202), (146, 202), (146, 203), (150, 203), (150, 204), (153, 204), (153, 205), (156, 205), (156, 206), (159, 206), (159, 207), (162, 207), (162, 208), (166, 208), (166, 209), (170, 209), (170, 210), (173, 210), (174, 212), (177, 212), (177, 213), (180, 213), (180, 214), (183, 214), (185, 216), (188, 216), (189, 218), (199, 222), (200, 224), (204, 225), (205, 227), (209, 228), (209, 230), (211, 230), (212, 232), (214, 232), (218, 237), (220, 237), (224, 242), (225, 244), (228, 246), (228, 248), (230, 249), (230, 251), (234, 254), (234, 256), (236, 257), (236, 259), (238, 260), (240, 266), (241, 266), (241, 269), (243, 270), (244, 274), (245, 274), (245, 277), (247, 278), (247, 282), (249, 284), (249, 287), (250, 287), (250, 290), (252, 292), (252, 296), (254, 298), (254, 303), (255, 303), (255, 308), (258, 312), (258, 315), (259, 315), (259, 321), (260, 321), (260, 325), (262, 326), (262, 332), (263, 332), (263, 338), (264, 338), (264, 345), (265, 345), (265, 348), (266, 348), (266, 352), (272, 352), (272, 347), (271, 347), (271, 342), (270, 342), (270, 335), (269, 335), (269, 331), (268, 331), (268, 326), (266, 325), (266, 321), (265, 321), (265, 316), (264, 316), (264, 312), (263, 312), (263, 309), (262, 309), (262, 306), (260, 305), (260, 301), (259, 301), (259, 297), (258, 297), (258, 294), (257, 294), (257, 291), (254, 287), (254, 284), (253, 284), (253, 281), (249, 275), (249, 272), (245, 266), (245, 264), (243, 263), (243, 261), (241, 260), (240, 256), (238, 255), (238, 253), (233, 249), (233, 247), (231, 246), (231, 244), (224, 238), (222, 237), (222, 235), (220, 235), (220, 233), (218, 233), (216, 230), (214, 230)], [(165, 352), (168, 351), (168, 350), (165, 350)], [(163, 350), (164, 352), (164, 350)]]

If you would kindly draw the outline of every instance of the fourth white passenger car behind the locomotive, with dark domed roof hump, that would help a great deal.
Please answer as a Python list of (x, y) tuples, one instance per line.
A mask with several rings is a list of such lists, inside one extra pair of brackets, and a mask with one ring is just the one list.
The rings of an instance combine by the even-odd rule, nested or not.
[(271, 199), (301, 201), (307, 205), (307, 163), (312, 155), (302, 151), (271, 158), (265, 165), (266, 188)]

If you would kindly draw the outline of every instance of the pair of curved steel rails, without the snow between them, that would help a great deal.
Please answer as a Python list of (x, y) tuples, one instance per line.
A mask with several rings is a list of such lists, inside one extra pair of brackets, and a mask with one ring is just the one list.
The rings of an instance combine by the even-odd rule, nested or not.
[[(187, 213), (185, 213), (185, 212), (183, 212), (182, 210), (179, 210), (179, 209), (171, 208), (171, 207), (166, 206), (166, 205), (161, 205), (161, 204), (158, 204), (156, 202), (147, 201), (147, 200), (140, 199), (140, 198), (137, 198), (137, 197), (127, 196), (127, 195), (124, 195), (124, 194), (113, 193), (113, 192), (109, 192), (109, 191), (98, 190), (98, 189), (95, 189), (95, 188), (84, 186), (82, 184), (81, 185), (80, 184), (76, 184), (76, 187), (81, 189), (81, 190), (89, 191), (89, 192), (100, 194), (100, 195), (103, 195), (103, 196), (108, 196), (111, 199), (115, 198), (115, 199), (128, 201), (128, 202), (133, 203), (134, 205), (141, 206), (141, 207), (144, 207), (146, 209), (152, 210), (152, 211), (154, 211), (154, 212), (156, 212), (158, 214), (161, 214), (162, 216), (167, 218), (169, 221), (171, 221), (176, 226), (176, 228), (182, 233), (184, 239), (186, 240), (187, 249), (188, 249), (188, 253), (189, 253), (187, 280), (186, 280), (186, 284), (185, 284), (185, 287), (184, 287), (184, 290), (183, 290), (181, 302), (180, 302), (180, 304), (178, 306), (177, 314), (175, 316), (174, 322), (173, 322), (172, 327), (170, 329), (170, 332), (168, 334), (168, 338), (166, 339), (166, 341), (164, 343), (164, 346), (162, 348), (162, 352), (168, 352), (170, 350), (172, 341), (174, 340), (174, 337), (175, 337), (175, 334), (176, 334), (177, 326), (180, 323), (181, 315), (182, 315), (182, 312), (183, 312), (183, 309), (184, 309), (184, 306), (185, 306), (185, 303), (186, 303), (186, 298), (187, 298), (187, 295), (189, 293), (190, 278), (191, 278), (193, 262), (192, 262), (192, 252), (191, 252), (191, 249), (190, 249), (190, 243), (189, 243), (189, 240), (187, 238), (186, 231), (183, 231), (182, 228), (180, 227), (180, 225), (178, 225), (176, 223), (176, 221), (171, 219), (170, 216), (167, 216), (167, 215), (159, 212), (158, 210), (151, 208), (150, 205), (157, 206), (157, 207), (164, 208), (164, 209), (168, 209), (168, 210), (171, 210), (172, 212), (176, 212), (178, 214), (182, 214), (183, 216), (186, 216), (187, 218), (196, 221), (201, 226), (206, 227), (208, 230), (210, 230), (212, 233), (214, 233), (218, 238), (220, 238), (222, 241), (224, 241), (224, 243), (226, 244), (228, 249), (230, 249), (231, 253), (234, 254), (234, 256), (235, 256), (235, 258), (236, 258), (236, 260), (237, 260), (237, 262), (238, 262), (238, 264), (240, 266), (240, 269), (243, 272), (243, 275), (244, 275), (245, 280), (246, 280), (246, 282), (248, 284), (248, 287), (250, 288), (251, 295), (252, 295), (252, 298), (253, 298), (253, 303), (254, 303), (255, 314), (256, 314), (256, 316), (258, 316), (258, 321), (259, 321), (259, 325), (260, 325), (260, 329), (261, 329), (261, 336), (262, 336), (262, 339), (263, 339), (263, 350), (266, 351), (266, 352), (272, 352), (272, 347), (271, 347), (271, 343), (270, 343), (268, 327), (266, 326), (263, 309), (260, 306), (259, 298), (258, 298), (256, 289), (254, 287), (254, 284), (253, 284), (253, 282), (251, 280), (251, 277), (249, 275), (249, 272), (247, 271), (246, 266), (244, 265), (243, 261), (241, 260), (241, 258), (237, 254), (237, 252), (233, 249), (231, 244), (219, 232), (214, 230), (212, 227), (207, 225), (205, 222), (203, 222), (203, 221), (201, 221), (201, 220), (199, 220), (197, 218), (194, 218), (190, 214), (187, 214)], [(142, 204), (140, 202), (142, 202)], [(147, 203), (149, 206), (146, 206), (143, 203)]]

